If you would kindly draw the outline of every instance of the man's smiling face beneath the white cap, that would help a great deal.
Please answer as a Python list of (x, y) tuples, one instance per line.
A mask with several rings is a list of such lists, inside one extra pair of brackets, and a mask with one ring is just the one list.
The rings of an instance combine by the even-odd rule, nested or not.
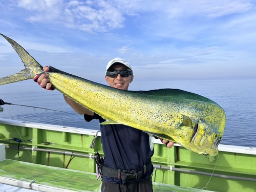
[[(111, 66), (110, 70), (129, 70), (126, 66), (122, 64), (116, 64)], [(129, 84), (133, 81), (133, 75), (130, 75), (129, 77), (121, 77), (120, 74), (117, 75), (115, 78), (111, 78), (109, 76), (105, 76), (105, 80), (107, 83), (110, 84), (110, 87), (122, 89), (122, 90), (128, 90)]]

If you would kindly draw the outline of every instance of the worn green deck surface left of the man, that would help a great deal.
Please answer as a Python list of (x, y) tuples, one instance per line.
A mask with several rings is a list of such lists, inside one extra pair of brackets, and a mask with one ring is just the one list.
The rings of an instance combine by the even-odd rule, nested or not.
[(0, 176), (75, 191), (94, 191), (101, 184), (93, 173), (8, 159), (0, 162)]

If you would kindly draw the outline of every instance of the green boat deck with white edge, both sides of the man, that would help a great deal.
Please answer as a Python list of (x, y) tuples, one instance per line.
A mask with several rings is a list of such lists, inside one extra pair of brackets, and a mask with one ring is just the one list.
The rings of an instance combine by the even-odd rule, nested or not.
[[(0, 161), (0, 183), (38, 191), (100, 191), (96, 174), (4, 159)], [(154, 191), (206, 191), (153, 183)]]

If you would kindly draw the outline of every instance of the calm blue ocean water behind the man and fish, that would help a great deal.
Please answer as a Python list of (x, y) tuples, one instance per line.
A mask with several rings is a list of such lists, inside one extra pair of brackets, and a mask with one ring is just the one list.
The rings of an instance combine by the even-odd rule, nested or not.
[[(134, 81), (130, 90), (181, 89), (214, 100), (226, 112), (226, 127), (221, 144), (256, 147), (256, 79)], [(97, 120), (86, 122), (64, 101), (58, 91), (46, 91), (33, 81), (0, 86), (5, 102), (30, 105), (3, 105), (0, 118), (57, 124), (99, 130)], [(51, 111), (45, 109), (53, 109)]]

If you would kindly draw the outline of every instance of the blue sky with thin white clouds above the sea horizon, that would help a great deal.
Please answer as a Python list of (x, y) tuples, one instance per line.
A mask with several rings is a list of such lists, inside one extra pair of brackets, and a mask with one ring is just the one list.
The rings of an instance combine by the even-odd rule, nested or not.
[[(135, 80), (256, 79), (255, 1), (9, 0), (0, 13), (40, 65), (96, 82), (115, 57)], [(0, 77), (22, 69), (0, 36)]]

